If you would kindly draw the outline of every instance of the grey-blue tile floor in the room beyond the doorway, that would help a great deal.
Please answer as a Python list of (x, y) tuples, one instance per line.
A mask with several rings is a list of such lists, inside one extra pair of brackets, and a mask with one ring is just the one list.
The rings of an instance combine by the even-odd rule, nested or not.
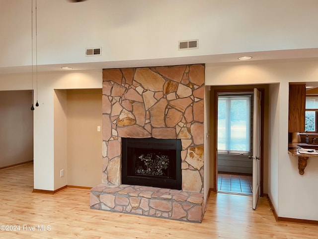
[(231, 173), (218, 173), (218, 191), (252, 195), (253, 177)]

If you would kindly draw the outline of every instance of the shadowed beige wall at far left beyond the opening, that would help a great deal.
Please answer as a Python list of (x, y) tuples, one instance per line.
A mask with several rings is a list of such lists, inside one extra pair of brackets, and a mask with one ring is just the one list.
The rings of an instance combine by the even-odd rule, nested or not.
[(0, 169), (33, 161), (31, 90), (0, 91)]

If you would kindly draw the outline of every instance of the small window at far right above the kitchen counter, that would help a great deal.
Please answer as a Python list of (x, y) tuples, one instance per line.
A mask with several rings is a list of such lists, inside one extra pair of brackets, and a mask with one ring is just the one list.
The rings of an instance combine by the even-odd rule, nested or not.
[(318, 96), (306, 97), (305, 131), (318, 131)]

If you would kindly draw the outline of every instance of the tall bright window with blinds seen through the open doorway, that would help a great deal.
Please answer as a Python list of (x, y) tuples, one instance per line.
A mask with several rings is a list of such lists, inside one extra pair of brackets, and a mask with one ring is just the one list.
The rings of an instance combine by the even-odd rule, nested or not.
[(218, 96), (218, 152), (243, 153), (251, 147), (251, 94)]

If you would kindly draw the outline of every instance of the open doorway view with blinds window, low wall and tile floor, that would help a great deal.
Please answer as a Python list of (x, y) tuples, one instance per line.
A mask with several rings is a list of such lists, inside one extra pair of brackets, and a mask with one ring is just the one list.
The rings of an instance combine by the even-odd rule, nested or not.
[(217, 99), (217, 190), (252, 195), (253, 93), (218, 93)]

